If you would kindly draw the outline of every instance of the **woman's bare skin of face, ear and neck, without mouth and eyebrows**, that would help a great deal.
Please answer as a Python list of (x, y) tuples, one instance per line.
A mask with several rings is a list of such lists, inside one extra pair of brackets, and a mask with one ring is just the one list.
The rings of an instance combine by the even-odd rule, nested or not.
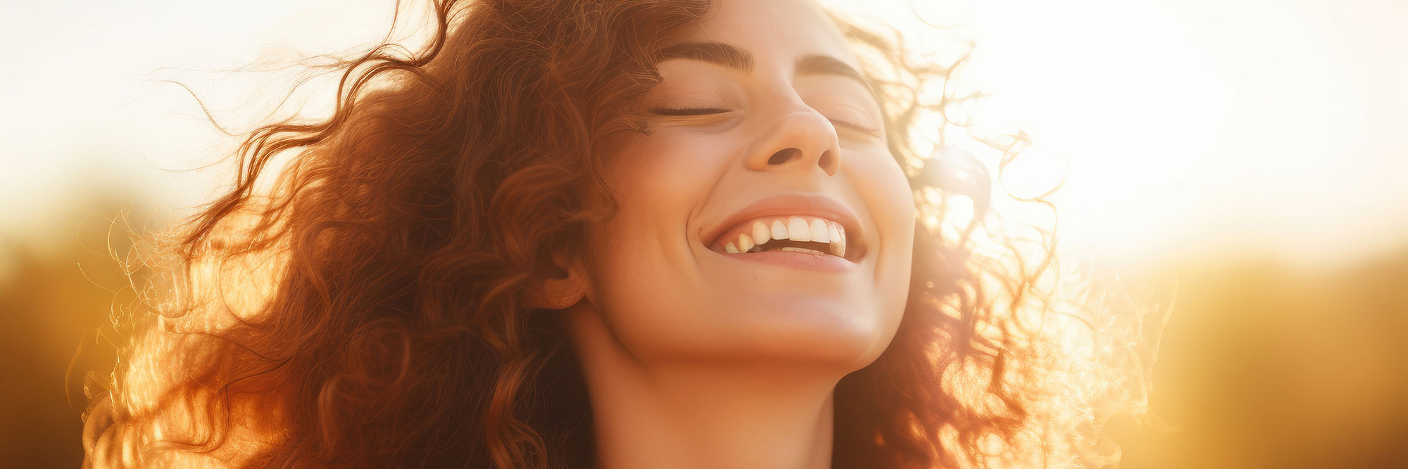
[[(857, 67), (818, 6), (719, 0), (676, 39), (734, 45), (752, 67), (659, 63), (648, 110), (722, 112), (655, 115), (650, 135), (621, 145), (607, 174), (618, 211), (536, 303), (562, 309), (582, 359), (598, 468), (829, 468), (836, 382), (886, 350), (904, 313), (910, 185), (866, 86), (798, 73), (808, 55)], [(705, 246), (725, 218), (781, 194), (849, 208), (865, 256), (814, 271)]]

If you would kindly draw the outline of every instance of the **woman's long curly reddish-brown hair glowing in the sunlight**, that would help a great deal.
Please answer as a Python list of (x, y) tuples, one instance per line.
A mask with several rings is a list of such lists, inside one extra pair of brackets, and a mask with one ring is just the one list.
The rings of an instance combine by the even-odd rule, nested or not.
[[(153, 313), (93, 397), (89, 462), (590, 466), (580, 365), (555, 315), (524, 299), (558, 274), (551, 253), (580, 251), (611, 216), (612, 143), (649, 132), (632, 104), (707, 7), (446, 0), (424, 49), (341, 63), (331, 118), (249, 133), (230, 190), (141, 260)], [(1049, 438), (1050, 354), (1015, 313), (1049, 309), (1055, 242), (976, 249), (986, 194), (945, 229), (952, 185), (915, 128), (943, 117), (922, 90), (950, 69), (842, 29), (877, 59), (866, 73), (921, 222), (897, 336), (836, 388), (834, 468), (1074, 461), (1076, 444)]]

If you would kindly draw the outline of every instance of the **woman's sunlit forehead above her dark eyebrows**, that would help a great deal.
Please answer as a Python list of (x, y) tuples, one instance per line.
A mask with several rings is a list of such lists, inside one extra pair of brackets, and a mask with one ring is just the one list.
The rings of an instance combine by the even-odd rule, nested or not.
[(791, 67), (804, 55), (857, 65), (841, 29), (811, 0), (712, 0), (701, 21), (681, 28), (679, 41), (729, 44), (750, 52), (760, 66)]

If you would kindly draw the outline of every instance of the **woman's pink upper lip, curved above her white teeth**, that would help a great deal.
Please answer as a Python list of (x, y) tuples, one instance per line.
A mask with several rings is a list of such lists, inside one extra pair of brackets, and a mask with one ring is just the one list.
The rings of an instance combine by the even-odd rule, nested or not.
[[(700, 239), (704, 246), (714, 246), (714, 242), (729, 227), (759, 216), (774, 215), (819, 216), (841, 223), (846, 230), (848, 251), (856, 253), (856, 256), (865, 253), (865, 236), (856, 213), (845, 204), (815, 194), (784, 194), (758, 199), (708, 227)], [(853, 256), (846, 257), (855, 258)]]

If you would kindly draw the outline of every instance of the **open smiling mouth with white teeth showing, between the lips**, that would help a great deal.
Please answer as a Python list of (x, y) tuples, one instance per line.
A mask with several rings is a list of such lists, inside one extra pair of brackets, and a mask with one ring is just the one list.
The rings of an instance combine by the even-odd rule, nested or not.
[(860, 249), (846, 240), (843, 225), (819, 216), (760, 216), (729, 227), (710, 249), (725, 254), (793, 251), (834, 256), (855, 263)]

